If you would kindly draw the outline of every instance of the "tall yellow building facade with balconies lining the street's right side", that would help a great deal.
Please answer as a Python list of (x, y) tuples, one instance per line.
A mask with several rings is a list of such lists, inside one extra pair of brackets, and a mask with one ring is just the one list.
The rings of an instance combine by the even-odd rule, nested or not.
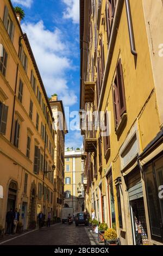
[(160, 6), (80, 0), (85, 204), (122, 245), (163, 242)]

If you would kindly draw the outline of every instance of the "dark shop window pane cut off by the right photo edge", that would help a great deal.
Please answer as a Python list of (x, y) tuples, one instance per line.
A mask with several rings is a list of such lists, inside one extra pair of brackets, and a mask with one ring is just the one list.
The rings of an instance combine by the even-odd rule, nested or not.
[[(155, 162), (155, 173), (156, 173), (156, 182), (158, 185), (158, 194), (161, 192), (163, 186), (163, 157)], [(163, 198), (159, 197), (161, 216), (163, 220)]]

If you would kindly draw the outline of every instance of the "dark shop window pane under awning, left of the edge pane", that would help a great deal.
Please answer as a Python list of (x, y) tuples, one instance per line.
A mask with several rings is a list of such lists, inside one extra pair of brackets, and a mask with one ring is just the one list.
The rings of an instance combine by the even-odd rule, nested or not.
[(158, 192), (155, 190), (154, 176), (152, 164), (150, 164), (145, 172), (148, 208), (149, 208), (149, 221), (151, 222), (152, 235), (161, 237), (160, 229), (160, 216), (158, 209)]

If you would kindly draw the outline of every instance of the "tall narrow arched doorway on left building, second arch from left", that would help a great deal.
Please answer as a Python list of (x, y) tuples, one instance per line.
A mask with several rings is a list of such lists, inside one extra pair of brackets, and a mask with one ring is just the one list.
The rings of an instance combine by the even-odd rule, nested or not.
[(33, 181), (30, 188), (30, 203), (29, 203), (29, 225), (36, 218), (36, 185)]

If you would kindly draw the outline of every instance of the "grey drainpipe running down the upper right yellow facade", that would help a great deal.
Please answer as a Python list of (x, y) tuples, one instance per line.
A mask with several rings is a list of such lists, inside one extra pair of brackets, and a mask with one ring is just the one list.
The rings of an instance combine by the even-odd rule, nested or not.
[(133, 22), (132, 22), (132, 18), (131, 18), (130, 0), (125, 0), (125, 2), (126, 2), (126, 12), (127, 12), (127, 22), (128, 22), (131, 53), (134, 56), (137, 56), (137, 52), (136, 52), (136, 48), (135, 48), (135, 40), (134, 40)]

